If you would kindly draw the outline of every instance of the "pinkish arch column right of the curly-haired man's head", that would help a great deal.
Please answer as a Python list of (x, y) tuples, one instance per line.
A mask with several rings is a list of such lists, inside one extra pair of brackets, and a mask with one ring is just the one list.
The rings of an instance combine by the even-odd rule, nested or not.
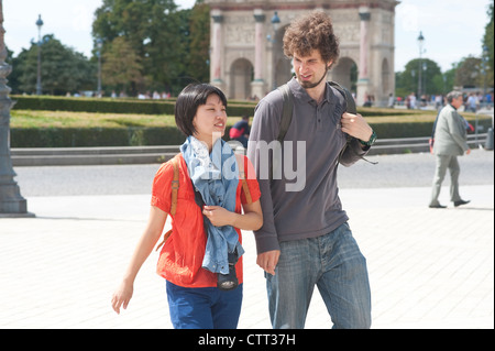
[(370, 62), (370, 19), (371, 13), (367, 7), (360, 7), (359, 9), (361, 28), (360, 28), (360, 67), (358, 78), (358, 106), (363, 106), (370, 91), (370, 76), (369, 76), (369, 62)]

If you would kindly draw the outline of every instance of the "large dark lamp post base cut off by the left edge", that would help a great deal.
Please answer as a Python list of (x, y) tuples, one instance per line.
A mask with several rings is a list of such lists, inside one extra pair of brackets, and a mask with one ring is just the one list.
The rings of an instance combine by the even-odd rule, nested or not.
[(7, 76), (12, 67), (6, 63), (7, 47), (3, 41), (3, 4), (0, 0), (0, 217), (34, 217), (28, 212), (26, 200), (14, 182), (15, 172), (10, 157), (10, 88)]

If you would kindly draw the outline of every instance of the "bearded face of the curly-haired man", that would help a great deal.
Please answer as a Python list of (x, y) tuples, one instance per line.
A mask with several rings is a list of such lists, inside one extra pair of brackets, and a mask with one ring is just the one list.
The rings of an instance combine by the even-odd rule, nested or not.
[(327, 77), (330, 64), (323, 62), (320, 52), (317, 50), (304, 57), (294, 54), (294, 72), (297, 80), (305, 89), (311, 89), (320, 85)]

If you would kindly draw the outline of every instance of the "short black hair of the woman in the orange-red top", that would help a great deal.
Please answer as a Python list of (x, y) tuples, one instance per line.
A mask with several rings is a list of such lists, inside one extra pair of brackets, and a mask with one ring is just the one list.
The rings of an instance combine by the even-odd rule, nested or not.
[(193, 120), (198, 111), (198, 107), (206, 105), (208, 97), (212, 94), (218, 95), (227, 108), (226, 95), (222, 90), (209, 84), (190, 84), (180, 91), (175, 102), (175, 123), (186, 136), (196, 133)]

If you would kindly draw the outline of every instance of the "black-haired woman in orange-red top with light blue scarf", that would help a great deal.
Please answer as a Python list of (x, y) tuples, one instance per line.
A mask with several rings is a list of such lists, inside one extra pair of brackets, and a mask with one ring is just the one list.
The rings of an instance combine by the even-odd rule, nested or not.
[[(180, 154), (155, 175), (148, 223), (112, 296), (118, 314), (128, 307), (135, 276), (169, 215), (172, 234), (162, 248), (157, 273), (166, 279), (174, 328), (237, 328), (242, 303), (240, 230), (260, 229), (263, 215), (251, 163), (221, 140), (226, 107), (223, 92), (207, 84), (189, 85), (178, 96), (175, 120), (187, 140)], [(175, 169), (178, 190), (173, 204)]]

